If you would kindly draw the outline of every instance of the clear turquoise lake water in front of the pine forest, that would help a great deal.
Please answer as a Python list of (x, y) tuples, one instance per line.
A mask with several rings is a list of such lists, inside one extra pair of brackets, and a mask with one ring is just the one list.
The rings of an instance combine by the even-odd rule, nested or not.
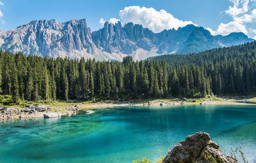
[[(60, 119), (0, 123), (0, 162), (132, 162), (166, 155), (195, 132), (226, 155), (241, 146), (256, 160), (256, 107), (116, 107)], [(17, 128), (25, 125), (25, 128)]]

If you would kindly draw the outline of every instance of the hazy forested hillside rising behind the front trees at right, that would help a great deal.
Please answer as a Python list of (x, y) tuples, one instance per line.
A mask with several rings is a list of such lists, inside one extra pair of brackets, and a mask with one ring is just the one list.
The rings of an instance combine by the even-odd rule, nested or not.
[(220, 63), (232, 59), (250, 62), (256, 56), (256, 41), (232, 47), (216, 48), (192, 54), (168, 54), (148, 58), (154, 61), (165, 61), (167, 65), (204, 65), (205, 63)]

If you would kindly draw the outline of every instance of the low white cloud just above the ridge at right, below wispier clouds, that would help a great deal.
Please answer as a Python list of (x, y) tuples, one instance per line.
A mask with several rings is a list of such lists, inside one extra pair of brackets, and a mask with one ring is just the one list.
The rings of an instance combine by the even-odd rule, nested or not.
[(235, 21), (228, 22), (228, 24), (221, 23), (216, 31), (213, 31), (211, 28), (207, 29), (211, 32), (212, 35), (226, 36), (232, 32), (243, 32), (244, 34), (248, 33), (246, 26)]

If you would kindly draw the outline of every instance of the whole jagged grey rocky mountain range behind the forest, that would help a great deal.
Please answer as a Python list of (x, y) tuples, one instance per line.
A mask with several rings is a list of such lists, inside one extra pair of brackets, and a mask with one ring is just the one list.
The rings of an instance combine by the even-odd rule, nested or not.
[(244, 33), (212, 36), (194, 25), (154, 33), (139, 24), (105, 22), (98, 31), (91, 31), (86, 20), (33, 20), (13, 30), (0, 31), (0, 49), (47, 57), (135, 60), (159, 54), (189, 54), (216, 47), (252, 42)]

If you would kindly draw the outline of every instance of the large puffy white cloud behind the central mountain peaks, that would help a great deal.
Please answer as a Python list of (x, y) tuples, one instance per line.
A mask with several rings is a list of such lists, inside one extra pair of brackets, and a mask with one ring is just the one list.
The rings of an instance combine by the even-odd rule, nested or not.
[(133, 22), (134, 24), (141, 24), (143, 27), (148, 27), (148, 29), (155, 33), (161, 32), (164, 29), (178, 29), (179, 27), (193, 24), (191, 21), (176, 19), (171, 13), (165, 10), (157, 12), (154, 8), (141, 8), (140, 6), (125, 7), (124, 10), (120, 10), (119, 16), (125, 23)]

